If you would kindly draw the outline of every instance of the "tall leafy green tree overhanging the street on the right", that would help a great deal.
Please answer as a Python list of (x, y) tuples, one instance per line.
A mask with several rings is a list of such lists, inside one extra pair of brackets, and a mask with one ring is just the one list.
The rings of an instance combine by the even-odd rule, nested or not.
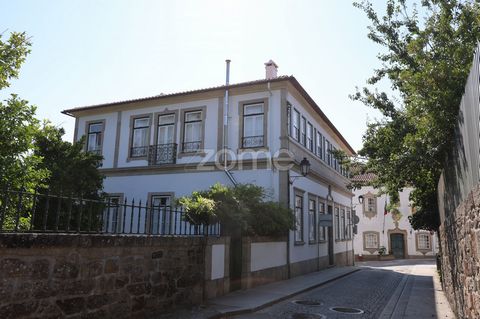
[[(418, 4), (388, 0), (382, 17), (370, 1), (354, 5), (371, 21), (368, 37), (384, 49), (378, 55), (382, 66), (368, 79), (369, 87), (352, 96), (383, 114), (368, 124), (359, 154), (368, 158), (366, 170), (378, 177), (373, 186), (392, 197), (414, 187), (412, 226), (436, 230), (437, 183), (480, 36), (480, 5), (423, 0), (417, 10)], [(395, 98), (375, 89), (383, 79), (390, 81)]]

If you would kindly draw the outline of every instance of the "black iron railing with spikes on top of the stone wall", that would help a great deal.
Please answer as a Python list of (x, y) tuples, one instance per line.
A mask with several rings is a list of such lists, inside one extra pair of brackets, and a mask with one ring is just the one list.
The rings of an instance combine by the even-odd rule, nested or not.
[(47, 192), (0, 191), (1, 232), (74, 232), (219, 236), (220, 225), (195, 225), (183, 208), (125, 198), (92, 200)]

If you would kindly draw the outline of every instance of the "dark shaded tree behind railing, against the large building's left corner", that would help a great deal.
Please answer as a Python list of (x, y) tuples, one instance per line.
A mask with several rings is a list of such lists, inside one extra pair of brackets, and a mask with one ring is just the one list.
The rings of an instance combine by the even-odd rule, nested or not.
[[(101, 199), (104, 176), (97, 167), (102, 156), (84, 152), (83, 139), (73, 144), (62, 140), (64, 134), (63, 128), (47, 122), (35, 135), (34, 154), (42, 159), (37, 168), (49, 175), (37, 189), (43, 196), (37, 200), (32, 223), (37, 229), (99, 229), (105, 205), (72, 198)], [(54, 196), (47, 199), (47, 193)]]

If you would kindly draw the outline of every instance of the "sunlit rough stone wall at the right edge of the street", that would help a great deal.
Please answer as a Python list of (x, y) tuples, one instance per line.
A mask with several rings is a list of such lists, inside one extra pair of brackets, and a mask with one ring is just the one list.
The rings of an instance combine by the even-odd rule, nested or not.
[(480, 186), (440, 226), (442, 284), (458, 318), (480, 318)]

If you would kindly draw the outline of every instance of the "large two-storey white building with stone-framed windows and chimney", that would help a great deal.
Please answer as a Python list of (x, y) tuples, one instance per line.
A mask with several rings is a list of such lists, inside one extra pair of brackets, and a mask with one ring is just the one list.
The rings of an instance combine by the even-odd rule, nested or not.
[[(295, 211), (292, 276), (352, 264), (353, 194), (329, 150), (354, 150), (293, 76), (266, 65), (264, 80), (63, 113), (76, 119), (74, 139), (86, 136), (86, 150), (103, 155), (104, 191), (117, 200), (170, 205), (217, 182), (252, 183)], [(303, 158), (310, 172), (297, 177)], [(333, 227), (320, 227), (328, 214)]]

